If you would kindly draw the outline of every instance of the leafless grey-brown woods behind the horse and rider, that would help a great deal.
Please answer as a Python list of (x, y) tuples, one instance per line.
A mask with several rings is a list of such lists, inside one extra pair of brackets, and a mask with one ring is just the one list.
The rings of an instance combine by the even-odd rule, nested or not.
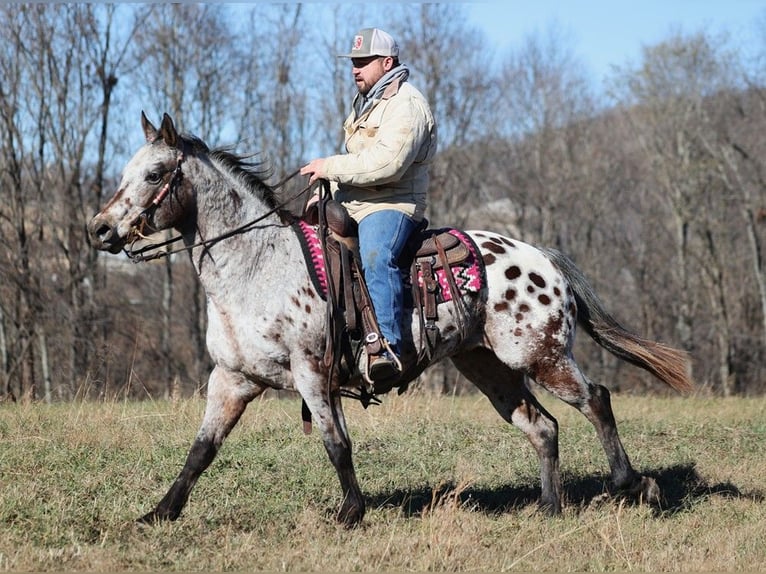
[[(143, 141), (141, 110), (267, 154), (275, 180), (341, 151), (355, 88), (336, 54), (364, 26), (397, 38), (437, 118), (433, 226), (557, 247), (626, 327), (686, 349), (703, 392), (766, 389), (766, 10), (746, 51), (679, 31), (598, 85), (555, 26), (496, 54), (460, 4), (2, 4), (0, 21), (6, 399), (204, 392), (188, 260), (97, 253), (85, 225)], [(592, 379), (655, 390), (586, 339)], [(420, 384), (465, 390), (446, 363)]]

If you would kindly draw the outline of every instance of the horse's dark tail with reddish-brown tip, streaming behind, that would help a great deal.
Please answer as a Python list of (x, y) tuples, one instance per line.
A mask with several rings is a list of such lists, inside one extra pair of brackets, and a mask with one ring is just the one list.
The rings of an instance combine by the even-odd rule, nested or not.
[(623, 328), (604, 308), (594, 289), (574, 262), (556, 249), (542, 251), (561, 270), (574, 291), (577, 321), (604, 349), (652, 373), (677, 391), (693, 388), (689, 357), (684, 351), (644, 339)]

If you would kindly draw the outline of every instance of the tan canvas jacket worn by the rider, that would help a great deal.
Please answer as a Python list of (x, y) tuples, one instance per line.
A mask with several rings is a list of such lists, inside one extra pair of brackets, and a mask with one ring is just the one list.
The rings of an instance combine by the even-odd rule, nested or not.
[(351, 112), (343, 129), (348, 153), (324, 165), (333, 197), (357, 221), (381, 209), (423, 219), (436, 153), (436, 124), (423, 95), (409, 82), (394, 81), (358, 120)]

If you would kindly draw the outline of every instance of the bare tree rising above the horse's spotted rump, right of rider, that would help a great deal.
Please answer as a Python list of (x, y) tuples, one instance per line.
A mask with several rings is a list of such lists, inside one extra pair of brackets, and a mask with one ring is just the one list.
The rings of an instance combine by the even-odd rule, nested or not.
[[(522, 48), (503, 60), (505, 87), (497, 104), (496, 130), (516, 146), (516, 162), (508, 162), (510, 198), (519, 204), (520, 229), (530, 240), (570, 248), (566, 225), (571, 207), (587, 186), (583, 165), (595, 115), (584, 68), (560, 30), (527, 38)], [(507, 153), (507, 152), (506, 152)], [(587, 215), (587, 212), (584, 213)]]

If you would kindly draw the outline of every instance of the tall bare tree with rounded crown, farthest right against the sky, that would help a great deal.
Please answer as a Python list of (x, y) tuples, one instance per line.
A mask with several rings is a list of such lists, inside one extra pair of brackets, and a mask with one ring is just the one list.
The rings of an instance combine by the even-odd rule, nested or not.
[(692, 352), (704, 341), (697, 324), (706, 322), (698, 313), (702, 303), (696, 284), (702, 280), (711, 294), (706, 299), (720, 353), (717, 384), (724, 394), (732, 392), (728, 307), (733, 301), (723, 287), (726, 247), (718, 245), (725, 240), (719, 217), (729, 211), (732, 187), (724, 185), (722, 157), (713, 149), (722, 135), (716, 131), (713, 99), (734, 85), (732, 71), (732, 60), (712, 38), (676, 35), (645, 50), (640, 70), (625, 78), (629, 96), (623, 99), (631, 105), (634, 137), (648, 161), (647, 191), (665, 204), (670, 217), (678, 297), (668, 304), (677, 317), (676, 332)]

